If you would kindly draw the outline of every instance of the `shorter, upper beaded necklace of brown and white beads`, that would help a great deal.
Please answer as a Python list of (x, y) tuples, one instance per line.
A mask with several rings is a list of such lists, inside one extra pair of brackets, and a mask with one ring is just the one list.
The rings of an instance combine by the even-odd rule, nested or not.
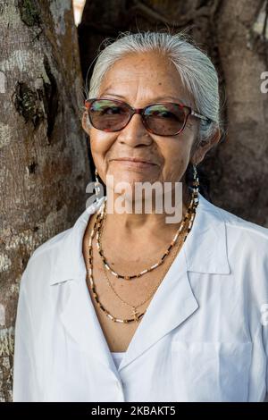
[[(102, 223), (103, 223), (103, 220), (104, 220), (104, 217), (102, 216), (102, 218), (101, 218), (101, 223), (99, 223), (99, 224), (98, 224), (98, 226), (97, 226), (97, 231), (96, 231), (96, 248), (97, 248), (97, 250), (98, 250), (99, 256), (100, 256), (100, 257), (102, 258), (102, 260), (103, 260), (103, 263), (104, 263), (104, 265), (105, 265), (105, 268), (106, 268), (107, 270), (109, 270), (109, 272), (110, 272), (110, 273), (112, 273), (112, 274), (113, 274), (115, 277), (117, 277), (118, 279), (131, 280), (131, 279), (134, 279), (134, 278), (140, 277), (140, 276), (141, 276), (141, 275), (143, 275), (143, 274), (149, 273), (149, 272), (151, 272), (152, 270), (154, 270), (155, 268), (157, 268), (159, 265), (162, 265), (162, 264), (163, 264), (164, 259), (166, 258), (166, 256), (168, 256), (168, 255), (170, 254), (170, 251), (171, 251), (172, 247), (175, 245), (175, 243), (176, 243), (176, 241), (177, 241), (177, 239), (178, 239), (178, 237), (179, 237), (179, 235), (180, 235), (180, 232), (183, 230), (183, 228), (184, 228), (185, 224), (187, 223), (188, 219), (190, 219), (190, 217), (191, 217), (191, 215), (192, 215), (192, 209), (193, 209), (193, 208), (195, 208), (195, 206), (196, 206), (196, 203), (195, 203), (195, 197), (196, 197), (196, 191), (194, 190), (194, 191), (192, 192), (192, 197), (191, 197), (190, 203), (189, 203), (189, 205), (188, 205), (187, 212), (186, 212), (186, 214), (185, 214), (185, 216), (184, 216), (183, 221), (180, 223), (180, 228), (179, 228), (179, 229), (178, 229), (178, 231), (176, 232), (176, 234), (175, 234), (174, 238), (172, 239), (172, 243), (171, 243), (171, 245), (170, 245), (170, 246), (166, 249), (166, 251), (164, 252), (164, 254), (163, 254), (163, 256), (161, 257), (160, 261), (159, 261), (158, 263), (156, 263), (156, 264), (152, 265), (151, 267), (149, 267), (149, 268), (147, 268), (147, 269), (145, 269), (145, 270), (143, 270), (143, 271), (139, 272), (138, 274), (133, 274), (133, 275), (122, 275), (122, 274), (119, 274), (119, 273), (114, 272), (114, 270), (113, 270), (113, 269), (110, 267), (110, 265), (108, 264), (108, 262), (107, 262), (107, 260), (106, 260), (106, 258), (105, 258), (105, 256), (104, 256), (103, 249), (102, 249), (101, 244), (100, 244), (100, 229), (101, 229), (101, 226), (102, 226)], [(106, 197), (105, 197), (105, 201), (104, 201), (104, 213), (105, 213), (105, 215), (106, 215)]]

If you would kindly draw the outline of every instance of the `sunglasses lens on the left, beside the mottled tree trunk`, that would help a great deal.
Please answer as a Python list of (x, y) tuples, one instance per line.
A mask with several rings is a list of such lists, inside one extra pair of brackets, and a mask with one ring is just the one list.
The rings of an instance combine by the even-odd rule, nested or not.
[(88, 108), (92, 125), (98, 130), (121, 130), (130, 119), (127, 105), (109, 99), (97, 99)]

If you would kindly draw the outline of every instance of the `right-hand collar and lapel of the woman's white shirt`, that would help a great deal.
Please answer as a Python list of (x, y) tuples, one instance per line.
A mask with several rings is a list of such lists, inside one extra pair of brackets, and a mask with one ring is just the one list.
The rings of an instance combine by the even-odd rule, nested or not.
[(147, 307), (119, 370), (196, 312), (199, 305), (188, 272), (230, 273), (225, 229), (217, 207), (199, 195), (192, 230)]

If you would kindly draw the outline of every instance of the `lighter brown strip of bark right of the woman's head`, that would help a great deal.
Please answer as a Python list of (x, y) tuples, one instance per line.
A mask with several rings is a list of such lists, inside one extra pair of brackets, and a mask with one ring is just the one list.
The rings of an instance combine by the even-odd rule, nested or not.
[(268, 71), (265, 4), (267, 16), (263, 0), (226, 0), (219, 11), (229, 134), (219, 151), (222, 176), (219, 188), (214, 182), (214, 196), (233, 213), (268, 227), (268, 95), (260, 88), (261, 74)]

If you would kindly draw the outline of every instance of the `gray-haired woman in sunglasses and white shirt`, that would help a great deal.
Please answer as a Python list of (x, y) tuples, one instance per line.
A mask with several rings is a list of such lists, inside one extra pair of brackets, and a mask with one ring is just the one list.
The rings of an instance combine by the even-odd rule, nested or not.
[[(213, 63), (180, 33), (121, 34), (98, 55), (82, 125), (106, 195), (29, 258), (14, 401), (265, 399), (268, 230), (199, 190), (220, 111)], [(149, 194), (122, 181), (172, 198), (179, 184), (180, 217), (156, 211), (161, 192), (132, 211)]]

